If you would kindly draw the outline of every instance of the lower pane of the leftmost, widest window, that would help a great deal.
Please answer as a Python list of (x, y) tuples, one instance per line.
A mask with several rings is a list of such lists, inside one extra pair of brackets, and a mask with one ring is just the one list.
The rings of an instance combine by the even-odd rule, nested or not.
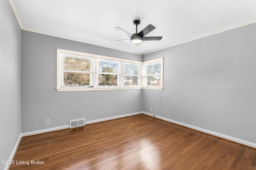
[(90, 84), (90, 73), (64, 72), (64, 86), (86, 86)]

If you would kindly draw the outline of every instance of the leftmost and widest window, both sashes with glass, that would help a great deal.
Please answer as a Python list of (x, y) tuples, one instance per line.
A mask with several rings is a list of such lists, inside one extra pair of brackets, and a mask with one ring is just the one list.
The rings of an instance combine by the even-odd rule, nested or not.
[(60, 53), (61, 87), (92, 86), (93, 58)]

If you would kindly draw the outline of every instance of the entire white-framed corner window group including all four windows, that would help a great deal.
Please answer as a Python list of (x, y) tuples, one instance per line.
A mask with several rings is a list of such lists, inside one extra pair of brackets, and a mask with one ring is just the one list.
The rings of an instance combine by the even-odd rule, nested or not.
[(140, 62), (57, 49), (57, 91), (162, 90), (163, 59)]

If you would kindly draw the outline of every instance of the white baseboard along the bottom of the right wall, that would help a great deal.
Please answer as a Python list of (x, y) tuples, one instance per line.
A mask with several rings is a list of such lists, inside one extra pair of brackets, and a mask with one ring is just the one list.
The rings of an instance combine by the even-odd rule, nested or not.
[[(146, 113), (144, 111), (142, 111), (143, 114), (145, 115), (149, 115), (149, 116), (152, 116), (153, 117), (153, 114), (150, 114), (150, 113)], [(158, 119), (162, 119), (164, 121), (168, 121), (170, 123), (174, 123), (174, 124), (177, 124), (177, 125), (181, 125), (181, 126), (184, 126), (184, 127), (188, 127), (190, 129), (194, 129), (196, 131), (200, 131), (200, 132), (203, 132), (203, 133), (207, 133), (207, 134), (210, 134), (210, 135), (213, 135), (213, 136), (216, 136), (216, 137), (220, 137), (220, 138), (223, 138), (223, 139), (227, 139), (229, 141), (233, 141), (233, 142), (236, 142), (236, 143), (240, 143), (242, 145), (246, 145), (248, 147), (252, 147), (252, 148), (255, 148), (256, 149), (256, 143), (251, 143), (251, 142), (248, 142), (248, 141), (244, 141), (242, 139), (238, 139), (238, 138), (235, 138), (235, 137), (230, 137), (228, 135), (223, 135), (221, 133), (217, 133), (217, 132), (214, 132), (214, 131), (209, 131), (207, 129), (202, 129), (200, 127), (196, 127), (196, 126), (192, 126), (192, 125), (188, 125), (186, 123), (182, 123), (182, 122), (178, 122), (178, 121), (175, 121), (175, 120), (171, 120), (171, 119), (167, 119), (167, 118), (164, 118), (164, 117), (161, 117), (161, 116), (157, 116), (155, 115), (156, 118)]]

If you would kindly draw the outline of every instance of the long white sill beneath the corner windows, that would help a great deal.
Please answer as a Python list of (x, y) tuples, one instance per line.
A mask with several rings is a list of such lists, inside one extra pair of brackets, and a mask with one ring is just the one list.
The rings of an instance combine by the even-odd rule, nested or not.
[(94, 91), (94, 90), (130, 90), (130, 89), (149, 89), (149, 90), (163, 90), (162, 87), (61, 87), (56, 88), (57, 92), (72, 92), (72, 91)]

